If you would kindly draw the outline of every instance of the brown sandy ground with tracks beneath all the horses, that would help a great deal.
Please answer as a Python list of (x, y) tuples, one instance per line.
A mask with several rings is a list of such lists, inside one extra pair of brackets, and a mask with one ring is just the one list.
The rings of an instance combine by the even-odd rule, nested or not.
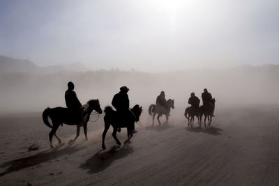
[[(76, 128), (63, 125), (65, 144), (50, 149), (41, 112), (1, 115), (0, 185), (279, 185), (279, 107), (219, 109), (206, 130), (175, 110), (152, 127), (145, 110), (132, 143), (116, 148), (110, 128), (106, 150), (102, 116), (89, 141), (81, 131), (68, 144)], [(125, 141), (126, 130), (117, 136)]]

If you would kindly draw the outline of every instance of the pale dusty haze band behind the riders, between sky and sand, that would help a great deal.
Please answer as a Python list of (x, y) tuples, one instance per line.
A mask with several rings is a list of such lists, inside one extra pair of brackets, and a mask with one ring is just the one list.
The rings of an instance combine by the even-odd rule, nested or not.
[[(239, 66), (223, 70), (181, 72), (137, 72), (96, 70), (54, 73), (9, 72), (0, 75), (0, 111), (43, 111), (46, 107), (66, 107), (67, 83), (74, 82), (78, 98), (85, 104), (98, 98), (104, 108), (123, 85), (128, 86), (130, 107), (140, 104), (147, 112), (160, 91), (174, 99), (175, 111), (188, 107), (191, 92), (201, 99), (204, 88), (216, 98), (216, 109), (245, 105), (279, 104), (278, 65)], [(201, 99), (202, 100), (202, 99)], [(175, 112), (174, 111), (174, 112)]]

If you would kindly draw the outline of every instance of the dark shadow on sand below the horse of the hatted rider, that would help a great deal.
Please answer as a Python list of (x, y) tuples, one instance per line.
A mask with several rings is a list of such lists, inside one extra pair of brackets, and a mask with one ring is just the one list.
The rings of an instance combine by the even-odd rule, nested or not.
[(114, 160), (126, 157), (128, 154), (133, 153), (133, 147), (123, 146), (121, 148), (113, 147), (108, 151), (102, 153), (100, 150), (93, 157), (86, 160), (84, 164), (80, 165), (82, 169), (89, 169), (88, 173), (98, 173), (109, 167)]

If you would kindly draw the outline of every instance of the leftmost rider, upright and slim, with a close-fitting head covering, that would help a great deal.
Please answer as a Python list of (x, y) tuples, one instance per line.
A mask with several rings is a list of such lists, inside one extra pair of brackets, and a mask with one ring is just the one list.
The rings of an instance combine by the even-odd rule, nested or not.
[(84, 112), (84, 107), (77, 98), (77, 94), (74, 91), (75, 85), (73, 82), (68, 82), (68, 90), (65, 92), (65, 101), (68, 109), (74, 114), (77, 123), (82, 126), (82, 116)]

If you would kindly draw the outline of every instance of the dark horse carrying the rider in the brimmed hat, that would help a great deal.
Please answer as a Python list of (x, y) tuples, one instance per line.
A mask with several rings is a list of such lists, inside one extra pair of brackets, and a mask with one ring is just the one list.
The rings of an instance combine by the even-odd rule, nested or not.
[(133, 133), (128, 132), (129, 131), (129, 126), (130, 125), (135, 125), (135, 122), (140, 121), (140, 114), (142, 114), (142, 107), (140, 107), (138, 104), (136, 104), (133, 109), (130, 109), (130, 111), (133, 112), (135, 117), (130, 117), (127, 118), (127, 124), (126, 125), (121, 125), (117, 124), (117, 113), (112, 109), (112, 107), (105, 107), (105, 116), (104, 116), (104, 121), (105, 121), (105, 129), (103, 132), (103, 144), (102, 148), (105, 150), (105, 135), (107, 134), (107, 130), (109, 130), (110, 125), (113, 127), (113, 132), (112, 132), (112, 137), (114, 137), (117, 146), (121, 146), (121, 142), (119, 139), (116, 137), (116, 132), (119, 127), (127, 127), (127, 134), (128, 134), (128, 139), (126, 142), (130, 142), (130, 139), (133, 137)]

